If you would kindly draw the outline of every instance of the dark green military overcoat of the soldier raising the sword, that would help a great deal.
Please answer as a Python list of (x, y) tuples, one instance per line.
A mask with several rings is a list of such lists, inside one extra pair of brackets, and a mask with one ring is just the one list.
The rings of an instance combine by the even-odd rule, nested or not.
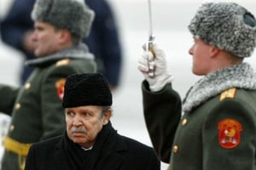
[[(152, 93), (148, 82), (143, 82), (148, 132), (158, 156), (170, 162), (171, 170), (256, 169), (255, 74), (247, 71), (247, 65), (240, 67), (238, 72), (224, 71), (227, 75), (213, 73), (201, 81), (205, 86), (195, 84), (196, 93), (189, 92), (193, 105), (188, 99), (182, 102), (171, 84)], [(219, 75), (223, 80), (207, 84)], [(212, 92), (208, 97), (207, 90)], [(200, 93), (204, 99), (196, 100)]]

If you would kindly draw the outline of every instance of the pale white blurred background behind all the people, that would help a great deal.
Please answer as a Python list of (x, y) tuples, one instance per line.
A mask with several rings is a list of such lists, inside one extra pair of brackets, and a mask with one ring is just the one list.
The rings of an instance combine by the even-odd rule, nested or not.
[[(1, 0), (0, 17), (9, 12), (14, 0)], [(95, 0), (96, 1), (96, 0)], [(137, 59), (142, 54), (143, 42), (148, 40), (148, 0), (108, 0), (113, 8), (123, 49), (123, 65), (119, 87), (113, 91), (113, 127), (120, 134), (151, 145), (143, 119), (141, 82), (143, 75), (137, 70)], [(191, 73), (191, 56), (188, 53), (193, 40), (187, 29), (201, 0), (151, 0), (155, 42), (166, 52), (169, 71), (174, 76), (173, 88), (183, 97), (200, 77)], [(219, 1), (218, 1), (219, 2)], [(224, 1), (222, 1), (224, 2)], [(225, 1), (231, 2), (231, 1)], [(256, 15), (253, 0), (233, 0)], [(0, 40), (0, 83), (19, 85), (23, 54)], [(250, 62), (256, 70), (255, 53)], [(0, 138), (6, 133), (9, 117), (0, 113)], [(0, 146), (0, 159), (3, 148)], [(167, 165), (162, 163), (161, 168)]]

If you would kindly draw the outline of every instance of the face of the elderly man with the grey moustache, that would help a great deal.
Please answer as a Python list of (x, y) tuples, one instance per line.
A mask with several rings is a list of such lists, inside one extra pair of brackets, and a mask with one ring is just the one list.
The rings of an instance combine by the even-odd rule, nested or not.
[(86, 105), (66, 109), (67, 136), (74, 143), (90, 148), (102, 126), (108, 124), (111, 110), (102, 116), (102, 106)]

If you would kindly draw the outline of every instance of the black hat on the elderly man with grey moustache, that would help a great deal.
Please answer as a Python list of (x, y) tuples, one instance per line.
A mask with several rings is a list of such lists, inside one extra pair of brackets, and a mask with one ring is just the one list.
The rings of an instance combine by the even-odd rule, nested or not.
[(67, 77), (62, 106), (112, 105), (108, 81), (102, 74), (75, 74)]

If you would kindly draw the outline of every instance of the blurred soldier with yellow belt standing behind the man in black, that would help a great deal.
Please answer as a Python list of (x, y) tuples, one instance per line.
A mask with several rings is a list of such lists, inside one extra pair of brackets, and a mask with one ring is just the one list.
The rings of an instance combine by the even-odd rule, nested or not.
[(2, 169), (24, 169), (32, 143), (65, 130), (61, 106), (66, 77), (96, 72), (94, 55), (81, 42), (90, 33), (94, 12), (79, 0), (38, 0), (32, 10), (34, 54), (27, 61), (34, 67), (24, 86), (0, 85), (0, 111), (12, 116)]

